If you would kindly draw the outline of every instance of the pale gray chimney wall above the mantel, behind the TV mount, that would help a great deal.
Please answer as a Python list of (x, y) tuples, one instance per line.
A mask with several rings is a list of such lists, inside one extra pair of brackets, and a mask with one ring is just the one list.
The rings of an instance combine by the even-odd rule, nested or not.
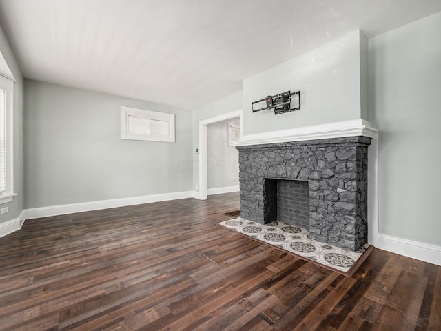
[[(358, 30), (243, 81), (243, 134), (360, 119), (367, 114), (367, 38)], [(361, 54), (361, 53), (366, 54)], [(300, 90), (301, 109), (275, 116), (252, 102)]]

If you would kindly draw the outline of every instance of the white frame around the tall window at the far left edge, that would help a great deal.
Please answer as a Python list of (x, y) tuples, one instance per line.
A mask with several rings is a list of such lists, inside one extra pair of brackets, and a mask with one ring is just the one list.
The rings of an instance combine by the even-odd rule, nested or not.
[(12, 202), (14, 196), (14, 141), (12, 132), (13, 123), (13, 93), (14, 82), (6, 77), (0, 75), (0, 89), (6, 92), (5, 103), (5, 119), (4, 119), (4, 132), (5, 132), (5, 181), (6, 190), (0, 192), (0, 204)]

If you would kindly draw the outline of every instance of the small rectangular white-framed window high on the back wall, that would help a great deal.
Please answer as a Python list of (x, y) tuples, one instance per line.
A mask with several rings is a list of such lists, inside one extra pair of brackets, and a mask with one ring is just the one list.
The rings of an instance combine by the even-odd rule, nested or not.
[(121, 139), (174, 143), (174, 114), (123, 106)]

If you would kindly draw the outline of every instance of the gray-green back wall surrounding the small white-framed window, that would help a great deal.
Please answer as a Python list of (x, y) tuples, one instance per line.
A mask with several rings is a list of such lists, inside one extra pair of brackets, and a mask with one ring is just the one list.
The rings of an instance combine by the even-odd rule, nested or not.
[[(121, 106), (176, 114), (176, 143), (121, 139)], [(192, 112), (25, 80), (25, 208), (192, 190)]]

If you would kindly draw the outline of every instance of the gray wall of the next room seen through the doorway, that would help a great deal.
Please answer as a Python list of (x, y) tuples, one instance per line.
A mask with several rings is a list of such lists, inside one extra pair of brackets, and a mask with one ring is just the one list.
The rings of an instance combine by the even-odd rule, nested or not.
[(228, 124), (240, 125), (238, 117), (207, 126), (207, 188), (239, 185), (239, 152), (228, 146)]

